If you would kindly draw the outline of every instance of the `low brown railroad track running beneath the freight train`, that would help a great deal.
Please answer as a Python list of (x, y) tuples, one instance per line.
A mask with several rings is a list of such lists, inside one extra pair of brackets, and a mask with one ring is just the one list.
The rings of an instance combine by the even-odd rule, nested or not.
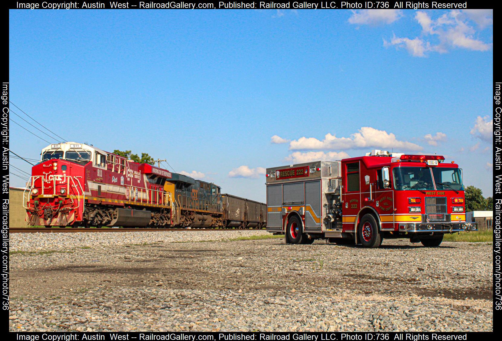
[(265, 229), (81, 229), (81, 228), (10, 228), (9, 233), (63, 233), (63, 232), (138, 232), (138, 231), (265, 231)]

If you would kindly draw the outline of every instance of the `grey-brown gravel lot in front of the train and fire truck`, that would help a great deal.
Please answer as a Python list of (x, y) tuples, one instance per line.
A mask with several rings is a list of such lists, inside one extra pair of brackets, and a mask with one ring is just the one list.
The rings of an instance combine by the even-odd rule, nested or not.
[(493, 329), (491, 243), (224, 241), (261, 234), (11, 234), (10, 330)]

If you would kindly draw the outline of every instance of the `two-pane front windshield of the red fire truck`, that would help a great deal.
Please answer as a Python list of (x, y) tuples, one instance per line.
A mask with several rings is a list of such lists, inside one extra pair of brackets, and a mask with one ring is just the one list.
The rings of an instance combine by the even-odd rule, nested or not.
[[(464, 190), (458, 168), (440, 167), (396, 167), (394, 168), (396, 189), (452, 189)], [(434, 177), (434, 182), (433, 182)], [(434, 184), (436, 188), (434, 188)]]

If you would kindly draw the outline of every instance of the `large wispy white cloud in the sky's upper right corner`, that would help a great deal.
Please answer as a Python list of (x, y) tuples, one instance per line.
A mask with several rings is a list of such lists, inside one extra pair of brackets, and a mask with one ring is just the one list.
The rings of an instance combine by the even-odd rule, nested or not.
[[(476, 23), (485, 26), (489, 25), (489, 17), (487, 17), (486, 13), (463, 13), (453, 10), (433, 20), (428, 13), (418, 11), (415, 20), (422, 26), (423, 37), (410, 39), (394, 36), (390, 42), (384, 40), (384, 46), (405, 47), (408, 53), (415, 57), (425, 57), (426, 52), (430, 51), (445, 53), (451, 48), (463, 48), (473, 51), (491, 49), (492, 44), (486, 44), (475, 38), (476, 30), (468, 25), (468, 18)], [(439, 43), (433, 45), (427, 41), (428, 38), (432, 37), (437, 38)]]

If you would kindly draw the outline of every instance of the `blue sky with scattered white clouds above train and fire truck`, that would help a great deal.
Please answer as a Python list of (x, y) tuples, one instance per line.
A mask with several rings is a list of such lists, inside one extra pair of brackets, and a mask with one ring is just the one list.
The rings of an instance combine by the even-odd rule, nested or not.
[[(492, 195), (491, 11), (11, 10), (9, 25), (12, 101), (68, 141), (261, 201), (266, 167), (437, 152)], [(10, 134), (24, 157), (48, 145)]]

